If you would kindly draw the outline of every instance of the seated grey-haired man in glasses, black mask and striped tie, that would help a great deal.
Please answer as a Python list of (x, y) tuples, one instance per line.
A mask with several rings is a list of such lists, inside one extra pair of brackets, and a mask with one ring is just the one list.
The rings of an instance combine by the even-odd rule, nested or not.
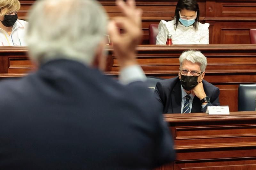
[(156, 84), (154, 96), (163, 113), (199, 113), (207, 106), (219, 106), (220, 89), (203, 80), (206, 57), (189, 50), (179, 60), (179, 76)]

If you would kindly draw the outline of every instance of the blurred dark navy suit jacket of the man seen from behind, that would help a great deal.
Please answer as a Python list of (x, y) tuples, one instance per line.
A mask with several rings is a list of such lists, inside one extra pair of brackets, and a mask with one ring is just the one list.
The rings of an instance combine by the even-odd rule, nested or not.
[(0, 169), (151, 169), (174, 159), (142, 82), (55, 60), (0, 83)]

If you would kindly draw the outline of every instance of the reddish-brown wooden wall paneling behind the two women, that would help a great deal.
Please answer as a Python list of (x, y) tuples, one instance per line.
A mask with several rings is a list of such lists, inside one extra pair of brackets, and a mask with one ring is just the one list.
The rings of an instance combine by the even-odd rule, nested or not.
[[(27, 13), (35, 0), (20, 0), (20, 19), (27, 19)], [(120, 15), (115, 0), (99, 0), (109, 18)], [(158, 24), (161, 19), (170, 21), (174, 17), (177, 0), (136, 0), (143, 10), (142, 44), (149, 44), (148, 26)], [(255, 0), (198, 0), (200, 22), (210, 23), (210, 44), (246, 44), (250, 43), (249, 29), (256, 28)]]

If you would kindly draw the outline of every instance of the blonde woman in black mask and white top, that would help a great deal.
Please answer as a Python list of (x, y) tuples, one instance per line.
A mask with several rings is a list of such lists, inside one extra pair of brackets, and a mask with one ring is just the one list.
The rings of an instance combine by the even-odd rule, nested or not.
[(20, 2), (0, 0), (0, 46), (25, 46), (28, 22), (18, 19)]

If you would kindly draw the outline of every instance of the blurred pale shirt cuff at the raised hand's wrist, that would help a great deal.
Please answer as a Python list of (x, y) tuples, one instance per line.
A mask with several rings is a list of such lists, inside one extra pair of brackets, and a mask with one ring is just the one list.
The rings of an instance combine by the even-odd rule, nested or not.
[(139, 65), (128, 66), (120, 71), (119, 81), (124, 85), (132, 83), (134, 81), (146, 80), (146, 75), (144, 74), (144, 71), (141, 69)]

